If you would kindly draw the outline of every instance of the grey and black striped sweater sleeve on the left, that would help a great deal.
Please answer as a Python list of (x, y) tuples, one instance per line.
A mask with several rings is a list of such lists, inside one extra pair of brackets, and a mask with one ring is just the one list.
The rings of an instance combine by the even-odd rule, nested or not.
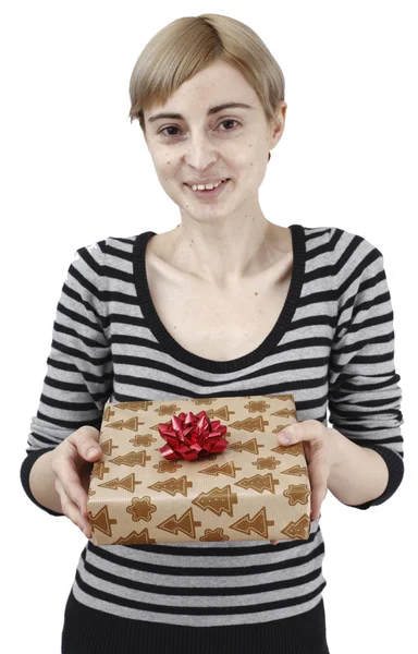
[(112, 359), (101, 303), (101, 276), (106, 241), (81, 247), (67, 269), (58, 302), (47, 373), (30, 422), (21, 482), (32, 501), (51, 516), (62, 516), (40, 505), (29, 487), (35, 461), (83, 425), (101, 426), (103, 407), (112, 387)]

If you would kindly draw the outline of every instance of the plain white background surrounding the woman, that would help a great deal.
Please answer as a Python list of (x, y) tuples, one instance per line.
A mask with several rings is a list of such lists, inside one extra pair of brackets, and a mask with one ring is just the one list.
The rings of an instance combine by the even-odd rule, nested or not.
[[(266, 217), (336, 226), (384, 255), (395, 316), (406, 472), (384, 505), (322, 505), (331, 654), (409, 654), (417, 619), (417, 23), (415, 2), (10, 2), (1, 9), (2, 597), (8, 652), (60, 651), (85, 545), (26, 497), (19, 471), (52, 324), (76, 249), (173, 229), (128, 82), (146, 43), (183, 15), (221, 13), (279, 61), (288, 109), (260, 187)], [(414, 609), (415, 605), (415, 609)], [(4, 614), (3, 614), (4, 615)], [(38, 644), (41, 643), (41, 644)], [(3, 643), (2, 643), (3, 644)], [(3, 647), (2, 647), (3, 649)], [(121, 653), (122, 654), (122, 653)], [(286, 653), (287, 654), (287, 653)]]

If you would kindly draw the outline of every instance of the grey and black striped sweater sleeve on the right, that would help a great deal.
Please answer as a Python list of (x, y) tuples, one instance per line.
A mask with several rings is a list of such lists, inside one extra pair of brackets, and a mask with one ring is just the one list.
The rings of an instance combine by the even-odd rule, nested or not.
[(336, 268), (339, 312), (329, 366), (330, 422), (356, 445), (376, 450), (386, 463), (389, 482), (383, 494), (354, 507), (369, 509), (386, 501), (404, 475), (394, 316), (383, 256), (369, 241), (354, 235)]

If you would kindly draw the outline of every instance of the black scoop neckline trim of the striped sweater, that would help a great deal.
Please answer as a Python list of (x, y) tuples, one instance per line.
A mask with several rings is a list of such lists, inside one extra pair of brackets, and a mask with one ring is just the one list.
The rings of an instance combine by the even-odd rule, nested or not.
[(291, 225), (288, 229), (292, 233), (293, 269), (283, 308), (270, 334), (253, 352), (229, 361), (213, 361), (194, 354), (183, 348), (165, 329), (152, 302), (145, 265), (147, 243), (157, 232), (146, 231), (137, 234), (133, 246), (133, 272), (137, 300), (143, 316), (161, 349), (174, 359), (208, 373), (232, 373), (258, 363), (267, 354), (272, 354), (293, 318), (300, 298), (305, 274), (306, 244), (304, 227), (302, 225)]

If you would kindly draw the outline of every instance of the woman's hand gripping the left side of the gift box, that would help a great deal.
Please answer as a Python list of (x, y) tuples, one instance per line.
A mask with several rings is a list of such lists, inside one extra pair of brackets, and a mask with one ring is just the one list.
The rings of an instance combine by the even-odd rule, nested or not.
[[(62, 512), (91, 538), (87, 518), (87, 493), (93, 463), (102, 456), (96, 427), (85, 425), (70, 434), (53, 450), (52, 472), (56, 491), (60, 496)], [(89, 453), (90, 448), (95, 451)]]

